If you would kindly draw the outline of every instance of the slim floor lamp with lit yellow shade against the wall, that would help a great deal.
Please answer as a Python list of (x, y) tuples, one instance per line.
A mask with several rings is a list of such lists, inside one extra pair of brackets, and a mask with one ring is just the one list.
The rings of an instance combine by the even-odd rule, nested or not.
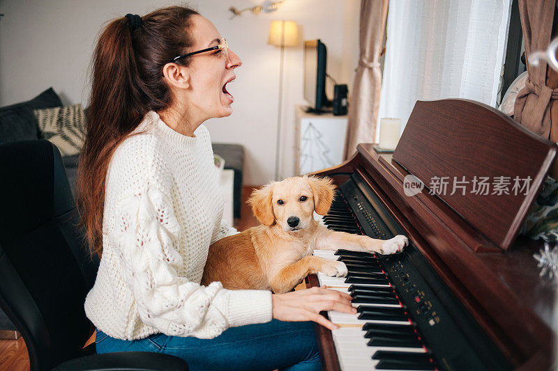
[(279, 72), (279, 107), (277, 110), (277, 141), (275, 152), (275, 180), (279, 179), (279, 150), (281, 142), (281, 106), (283, 97), (283, 61), (285, 47), (296, 47), (298, 44), (298, 30), (293, 21), (271, 21), (269, 26), (268, 44), (281, 47), (281, 63)]

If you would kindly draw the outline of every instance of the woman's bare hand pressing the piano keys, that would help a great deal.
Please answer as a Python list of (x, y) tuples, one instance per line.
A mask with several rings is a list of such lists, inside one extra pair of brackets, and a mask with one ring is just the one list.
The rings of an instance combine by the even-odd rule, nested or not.
[(349, 295), (328, 290), (326, 286), (286, 292), (285, 294), (273, 294), (271, 295), (273, 318), (289, 322), (314, 321), (330, 330), (335, 330), (339, 326), (320, 315), (319, 312), (338, 310), (355, 314), (356, 309), (351, 305), (351, 299), (352, 297)]

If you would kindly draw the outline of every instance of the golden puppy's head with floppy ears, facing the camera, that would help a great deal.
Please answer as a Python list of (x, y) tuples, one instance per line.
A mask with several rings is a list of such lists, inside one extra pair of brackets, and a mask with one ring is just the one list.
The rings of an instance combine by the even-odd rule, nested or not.
[(289, 177), (257, 189), (248, 202), (260, 223), (296, 232), (310, 226), (314, 211), (327, 214), (334, 190), (329, 178)]

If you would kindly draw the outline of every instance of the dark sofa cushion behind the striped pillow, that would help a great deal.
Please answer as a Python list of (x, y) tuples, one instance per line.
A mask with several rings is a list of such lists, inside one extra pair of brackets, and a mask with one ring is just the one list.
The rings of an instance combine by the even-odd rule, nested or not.
[(32, 100), (0, 108), (0, 144), (10, 141), (38, 139), (38, 127), (33, 109), (61, 106), (60, 98), (52, 88)]

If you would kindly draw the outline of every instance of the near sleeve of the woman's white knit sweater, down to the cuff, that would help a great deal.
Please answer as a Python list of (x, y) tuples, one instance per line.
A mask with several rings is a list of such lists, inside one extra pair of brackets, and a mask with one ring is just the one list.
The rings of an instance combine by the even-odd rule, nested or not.
[(143, 322), (170, 336), (213, 338), (228, 327), (269, 322), (271, 293), (204, 287), (178, 276), (181, 227), (168, 192), (153, 182), (116, 205), (115, 242), (123, 280)]

